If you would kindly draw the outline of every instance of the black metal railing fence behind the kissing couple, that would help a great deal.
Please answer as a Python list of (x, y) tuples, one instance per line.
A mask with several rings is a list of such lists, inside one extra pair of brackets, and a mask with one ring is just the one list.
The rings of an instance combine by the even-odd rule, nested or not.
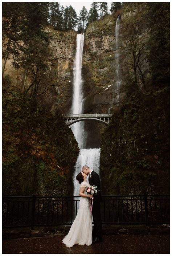
[[(77, 214), (80, 196), (3, 197), (3, 227), (71, 225)], [(102, 196), (102, 223), (169, 223), (169, 195)]]

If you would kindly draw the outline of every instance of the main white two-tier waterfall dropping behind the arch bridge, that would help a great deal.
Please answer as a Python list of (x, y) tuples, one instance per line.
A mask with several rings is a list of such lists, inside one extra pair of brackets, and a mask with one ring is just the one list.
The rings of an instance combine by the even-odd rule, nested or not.
[[(74, 68), (73, 68), (73, 102), (71, 107), (72, 114), (83, 113), (83, 81), (82, 81), (82, 51), (83, 51), (84, 33), (77, 35), (77, 49), (75, 54)], [(84, 122), (77, 122), (72, 125), (71, 130), (78, 142), (79, 155), (75, 164), (75, 171), (73, 174), (74, 192), (73, 195), (79, 195), (79, 183), (76, 176), (84, 165), (89, 166), (99, 173), (100, 165), (100, 148), (99, 149), (84, 149), (86, 141), (86, 132), (84, 129)], [(74, 207), (75, 211), (75, 207)]]

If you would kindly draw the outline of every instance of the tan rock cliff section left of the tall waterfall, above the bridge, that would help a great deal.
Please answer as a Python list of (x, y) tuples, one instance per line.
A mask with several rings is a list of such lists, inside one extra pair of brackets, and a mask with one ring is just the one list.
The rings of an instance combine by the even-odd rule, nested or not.
[(42, 99), (53, 114), (56, 114), (57, 109), (62, 113), (69, 113), (77, 33), (74, 31), (59, 32), (49, 27), (46, 30), (50, 35), (52, 51), (52, 58), (49, 61), (55, 72), (54, 86), (48, 94), (42, 96)]

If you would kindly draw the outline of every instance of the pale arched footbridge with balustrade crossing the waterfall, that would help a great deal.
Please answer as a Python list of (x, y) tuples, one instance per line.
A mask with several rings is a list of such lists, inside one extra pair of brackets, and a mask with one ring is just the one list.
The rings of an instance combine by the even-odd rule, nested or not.
[(112, 118), (112, 115), (113, 114), (65, 114), (65, 115), (62, 115), (62, 117), (64, 118), (64, 121), (67, 126), (70, 126), (73, 123), (90, 120), (90, 119), (99, 121), (108, 125), (109, 120)]

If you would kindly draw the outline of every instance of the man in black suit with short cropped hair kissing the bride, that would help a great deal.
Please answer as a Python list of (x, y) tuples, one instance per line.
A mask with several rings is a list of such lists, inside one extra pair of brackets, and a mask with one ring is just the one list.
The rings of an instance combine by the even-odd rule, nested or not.
[(101, 220), (101, 192), (100, 192), (100, 177), (97, 172), (91, 170), (87, 165), (82, 167), (82, 172), (86, 175), (89, 174), (89, 183), (91, 186), (95, 185), (99, 189), (97, 195), (93, 195), (93, 222), (94, 222), (94, 230), (93, 230), (93, 243), (102, 241), (102, 220)]

